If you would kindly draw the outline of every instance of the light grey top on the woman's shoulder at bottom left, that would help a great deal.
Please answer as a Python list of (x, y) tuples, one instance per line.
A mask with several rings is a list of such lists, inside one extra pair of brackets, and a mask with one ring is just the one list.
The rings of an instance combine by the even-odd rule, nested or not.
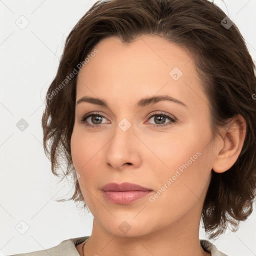
[(83, 242), (87, 237), (88, 236), (69, 238), (48, 249), (31, 251), (21, 254), (13, 254), (9, 256), (61, 256), (65, 254), (69, 256), (79, 256), (75, 245)]

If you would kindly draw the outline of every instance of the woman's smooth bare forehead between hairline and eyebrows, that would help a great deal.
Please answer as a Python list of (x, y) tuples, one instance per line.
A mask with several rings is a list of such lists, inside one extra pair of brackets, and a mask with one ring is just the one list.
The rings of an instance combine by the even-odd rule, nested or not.
[(76, 98), (135, 102), (145, 95), (169, 94), (191, 104), (199, 98), (206, 102), (192, 54), (160, 36), (144, 35), (131, 43), (108, 37), (95, 48), (98, 53), (78, 73)]

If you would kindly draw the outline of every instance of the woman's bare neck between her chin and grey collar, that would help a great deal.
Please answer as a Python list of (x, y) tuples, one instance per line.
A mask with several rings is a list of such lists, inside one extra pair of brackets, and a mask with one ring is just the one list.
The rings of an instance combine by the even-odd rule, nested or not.
[[(128, 235), (118, 236), (109, 233), (94, 218), (92, 233), (84, 244), (83, 253), (86, 255), (109, 256), (121, 254), (124, 256), (210, 256), (203, 250), (199, 241), (199, 223), (184, 222), (180, 219), (175, 225), (165, 226), (150, 233), (137, 235), (127, 232)], [(183, 228), (182, 228), (183, 227)], [(80, 253), (82, 254), (82, 251)]]

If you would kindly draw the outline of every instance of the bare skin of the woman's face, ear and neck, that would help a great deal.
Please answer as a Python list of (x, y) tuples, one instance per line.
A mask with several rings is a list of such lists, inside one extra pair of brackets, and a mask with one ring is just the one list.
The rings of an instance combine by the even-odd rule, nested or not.
[[(71, 136), (79, 185), (94, 216), (84, 255), (210, 255), (199, 243), (203, 200), (211, 169), (227, 170), (241, 151), (243, 117), (237, 115), (228, 129), (220, 129), (222, 137), (213, 139), (209, 103), (191, 54), (159, 36), (143, 35), (128, 45), (108, 37), (95, 48), (99, 52), (78, 73), (76, 100), (98, 97), (109, 107), (77, 104)], [(169, 75), (173, 67), (183, 73), (177, 80)], [(142, 97), (166, 94), (186, 106), (165, 100), (135, 107)], [(100, 123), (95, 117), (79, 122), (84, 114), (97, 112), (105, 116), (100, 127), (85, 126), (86, 121)], [(156, 116), (148, 118), (152, 112)], [(177, 122), (167, 117), (159, 121), (160, 112)], [(131, 124), (126, 131), (118, 126), (123, 118)], [(153, 126), (162, 123), (170, 125)], [(200, 156), (155, 201), (149, 201), (197, 151)], [(131, 204), (107, 201), (100, 187), (124, 181), (153, 191)], [(130, 227), (126, 233), (118, 228), (123, 221)], [(82, 245), (76, 246), (80, 255)]]

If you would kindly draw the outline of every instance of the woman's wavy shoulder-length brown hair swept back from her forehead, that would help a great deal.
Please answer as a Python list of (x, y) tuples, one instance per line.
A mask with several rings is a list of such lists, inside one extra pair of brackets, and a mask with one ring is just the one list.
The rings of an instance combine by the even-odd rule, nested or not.
[(223, 173), (212, 170), (202, 208), (208, 237), (217, 237), (227, 223), (238, 227), (239, 221), (250, 215), (256, 190), (255, 65), (236, 25), (227, 28), (221, 24), (225, 16), (207, 0), (108, 0), (95, 2), (79, 19), (66, 38), (42, 116), (44, 152), (51, 170), (59, 175), (56, 170), (63, 156), (67, 164), (63, 177), (70, 176), (74, 184), (73, 195), (67, 200), (83, 202), (86, 207), (71, 159), (77, 74), (72, 79), (69, 75), (101, 39), (117, 36), (129, 43), (151, 34), (192, 53), (210, 102), (214, 136), (219, 134), (218, 127), (236, 114), (246, 121), (245, 141), (236, 162)]

